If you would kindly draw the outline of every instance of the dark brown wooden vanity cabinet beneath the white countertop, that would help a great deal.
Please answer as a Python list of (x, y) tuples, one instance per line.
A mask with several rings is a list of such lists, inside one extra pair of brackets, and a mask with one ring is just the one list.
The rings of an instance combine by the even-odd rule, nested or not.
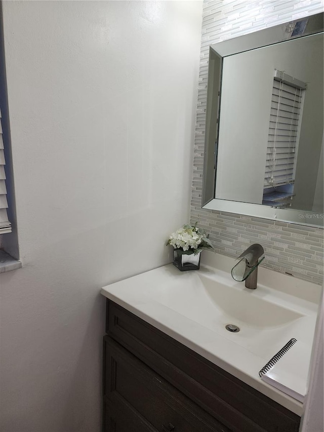
[(107, 300), (104, 432), (298, 432), (300, 417)]

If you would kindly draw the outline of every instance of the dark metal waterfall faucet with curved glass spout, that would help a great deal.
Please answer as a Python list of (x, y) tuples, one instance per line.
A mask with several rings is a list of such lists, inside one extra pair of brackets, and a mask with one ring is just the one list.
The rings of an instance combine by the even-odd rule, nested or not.
[(259, 258), (263, 253), (264, 250), (261, 245), (258, 243), (251, 245), (237, 258), (238, 263), (234, 265), (231, 271), (232, 278), (238, 282), (245, 281), (247, 288), (255, 290), (258, 280), (258, 265), (264, 260), (264, 256), (260, 260)]

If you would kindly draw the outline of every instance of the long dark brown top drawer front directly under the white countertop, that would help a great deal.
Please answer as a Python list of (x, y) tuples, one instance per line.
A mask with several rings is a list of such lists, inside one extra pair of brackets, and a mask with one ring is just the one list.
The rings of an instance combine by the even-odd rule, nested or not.
[(299, 416), (109, 300), (106, 327), (109, 336), (233, 432), (298, 431)]

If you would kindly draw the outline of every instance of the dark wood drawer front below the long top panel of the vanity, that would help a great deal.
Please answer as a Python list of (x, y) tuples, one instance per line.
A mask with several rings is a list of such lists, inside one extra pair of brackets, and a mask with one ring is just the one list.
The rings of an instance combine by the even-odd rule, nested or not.
[(161, 432), (230, 432), (108, 336), (104, 337), (104, 352), (105, 400), (119, 410), (133, 410), (131, 417), (136, 417), (136, 422), (142, 419), (145, 425), (140, 429), (134, 422), (130, 431), (142, 432), (151, 426)]

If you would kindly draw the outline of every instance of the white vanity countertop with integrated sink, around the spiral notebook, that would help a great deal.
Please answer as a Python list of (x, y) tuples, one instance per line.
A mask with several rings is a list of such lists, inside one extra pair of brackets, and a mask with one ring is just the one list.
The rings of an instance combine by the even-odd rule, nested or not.
[[(244, 283), (230, 277), (234, 258), (208, 253), (205, 262), (221, 269), (201, 265), (198, 271), (180, 272), (169, 264), (107, 285), (101, 294), (301, 415), (300, 402), (262, 381), (258, 373), (291, 337), (307, 344), (305, 359), (309, 361), (321, 287), (259, 268), (258, 288), (248, 290)], [(223, 290), (216, 300), (211, 297), (214, 288)], [(214, 319), (219, 300), (225, 309), (233, 303), (233, 324), (241, 327), (240, 332), (230, 333), (220, 325), (222, 319), (224, 323), (228, 320), (228, 315)], [(263, 326), (264, 301), (270, 305), (270, 312), (268, 316), (264, 314)], [(245, 308), (250, 304), (253, 308), (246, 318)], [(271, 323), (271, 313), (278, 320), (275, 325)], [(292, 318), (286, 323), (289, 314)]]

